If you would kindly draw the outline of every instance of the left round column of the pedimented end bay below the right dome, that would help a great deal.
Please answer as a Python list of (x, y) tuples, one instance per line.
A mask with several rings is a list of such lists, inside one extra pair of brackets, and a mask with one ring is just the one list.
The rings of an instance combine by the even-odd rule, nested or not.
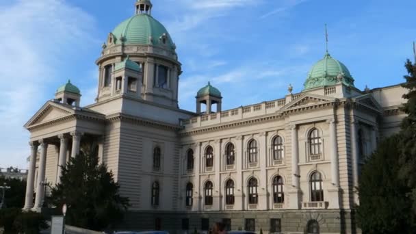
[(289, 191), (289, 209), (299, 209), (299, 148), (298, 148), (298, 129), (296, 125), (291, 126), (291, 185)]

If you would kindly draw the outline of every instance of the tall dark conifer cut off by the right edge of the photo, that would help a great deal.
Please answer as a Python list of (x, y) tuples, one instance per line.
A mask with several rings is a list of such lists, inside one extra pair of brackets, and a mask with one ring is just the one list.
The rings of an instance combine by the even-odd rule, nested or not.
[(402, 121), (402, 131), (400, 131), (400, 178), (406, 181), (411, 188), (409, 196), (413, 200), (413, 213), (416, 214), (416, 64), (407, 60), (405, 65), (408, 75), (404, 76), (406, 83), (402, 86), (408, 89), (408, 93), (403, 95), (407, 99), (402, 111), (407, 116)]

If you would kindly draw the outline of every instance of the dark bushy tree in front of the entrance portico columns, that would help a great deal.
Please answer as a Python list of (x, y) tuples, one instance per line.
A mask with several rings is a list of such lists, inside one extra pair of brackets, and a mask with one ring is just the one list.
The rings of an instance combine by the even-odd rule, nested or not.
[(120, 186), (96, 151), (79, 153), (62, 168), (61, 183), (51, 191), (51, 203), (58, 209), (68, 206), (67, 224), (103, 230), (120, 222), (129, 199), (120, 196)]

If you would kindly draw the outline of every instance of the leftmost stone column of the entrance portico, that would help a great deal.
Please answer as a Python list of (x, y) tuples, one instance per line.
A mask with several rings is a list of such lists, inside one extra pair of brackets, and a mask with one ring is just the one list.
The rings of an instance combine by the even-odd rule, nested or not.
[(35, 183), (35, 170), (36, 170), (36, 156), (38, 155), (38, 142), (29, 142), (31, 148), (29, 171), (27, 172), (26, 183), (26, 197), (25, 207), (23, 209), (31, 209), (34, 207), (34, 183)]

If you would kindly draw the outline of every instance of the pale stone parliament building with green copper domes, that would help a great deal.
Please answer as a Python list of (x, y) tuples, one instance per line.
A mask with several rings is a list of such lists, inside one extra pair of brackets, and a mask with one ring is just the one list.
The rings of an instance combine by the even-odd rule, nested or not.
[(399, 131), (406, 90), (359, 90), (326, 51), (302, 92), (288, 83), (276, 100), (222, 109), (207, 83), (189, 112), (178, 103), (176, 46), (152, 10), (135, 0), (135, 14), (108, 34), (94, 103), (80, 106), (68, 81), (26, 123), (24, 209), (40, 211), (45, 184), (60, 183), (61, 166), (94, 144), (131, 203), (120, 229), (205, 233), (224, 222), (257, 233), (360, 233), (360, 168)]

